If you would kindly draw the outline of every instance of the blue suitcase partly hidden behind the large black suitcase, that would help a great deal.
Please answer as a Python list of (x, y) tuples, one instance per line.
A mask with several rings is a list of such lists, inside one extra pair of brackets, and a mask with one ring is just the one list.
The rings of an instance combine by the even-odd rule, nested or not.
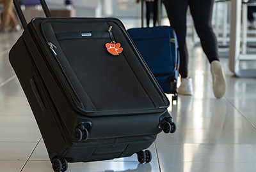
[(128, 33), (163, 91), (177, 100), (179, 47), (175, 31), (158, 26), (133, 28)]

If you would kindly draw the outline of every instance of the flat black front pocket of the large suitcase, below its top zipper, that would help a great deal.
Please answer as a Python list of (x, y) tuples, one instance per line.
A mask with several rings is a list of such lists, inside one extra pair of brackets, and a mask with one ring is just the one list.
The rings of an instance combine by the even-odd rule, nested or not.
[[(80, 83), (98, 111), (155, 108), (124, 54), (109, 54), (105, 45), (110, 41), (100, 38), (58, 42), (79, 80), (72, 82), (73, 87)], [(83, 95), (79, 97), (83, 99)]]

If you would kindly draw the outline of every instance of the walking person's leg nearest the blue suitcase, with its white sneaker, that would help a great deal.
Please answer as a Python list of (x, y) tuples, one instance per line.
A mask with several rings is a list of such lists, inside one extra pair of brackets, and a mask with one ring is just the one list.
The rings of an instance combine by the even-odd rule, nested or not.
[(188, 76), (188, 48), (186, 45), (186, 15), (188, 10), (188, 0), (163, 0), (164, 6), (170, 20), (170, 24), (175, 30), (180, 51), (181, 84), (178, 89), (179, 94), (192, 95), (192, 79)]

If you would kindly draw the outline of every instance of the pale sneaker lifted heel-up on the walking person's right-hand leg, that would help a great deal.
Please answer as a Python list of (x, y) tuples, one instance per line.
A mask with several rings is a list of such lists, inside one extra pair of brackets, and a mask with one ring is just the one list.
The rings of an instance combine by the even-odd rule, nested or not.
[(226, 92), (226, 79), (219, 61), (211, 62), (211, 73), (214, 96), (220, 99)]

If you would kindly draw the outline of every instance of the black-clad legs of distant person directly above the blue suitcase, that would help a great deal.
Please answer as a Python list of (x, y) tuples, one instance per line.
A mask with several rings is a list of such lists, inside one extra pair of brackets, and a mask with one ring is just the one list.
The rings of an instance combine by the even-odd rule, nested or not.
[(156, 22), (157, 22), (157, 1), (155, 0), (154, 2), (147, 2), (146, 1), (146, 6), (147, 6), (147, 11), (146, 11), (146, 15), (147, 15), (147, 27), (149, 27), (149, 23), (150, 23), (150, 16), (151, 13), (153, 13), (153, 25), (156, 26)]

